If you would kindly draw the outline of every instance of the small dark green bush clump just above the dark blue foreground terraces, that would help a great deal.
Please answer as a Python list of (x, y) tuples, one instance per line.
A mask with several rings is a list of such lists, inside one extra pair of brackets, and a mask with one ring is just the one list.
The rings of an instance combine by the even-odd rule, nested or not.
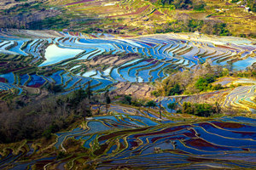
[(191, 114), (195, 116), (212, 116), (214, 114), (220, 114), (221, 113), (221, 107), (216, 102), (214, 105), (211, 104), (198, 104), (198, 103), (190, 103), (190, 102), (184, 102), (182, 110), (180, 111), (182, 113)]

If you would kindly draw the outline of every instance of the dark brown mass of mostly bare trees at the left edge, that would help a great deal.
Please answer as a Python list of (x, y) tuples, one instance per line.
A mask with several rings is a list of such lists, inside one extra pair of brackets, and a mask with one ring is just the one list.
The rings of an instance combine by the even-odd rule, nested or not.
[(51, 133), (91, 116), (90, 98), (90, 88), (87, 88), (65, 96), (51, 95), (28, 104), (22, 100), (9, 101), (6, 111), (0, 112), (0, 143), (42, 136), (49, 139)]

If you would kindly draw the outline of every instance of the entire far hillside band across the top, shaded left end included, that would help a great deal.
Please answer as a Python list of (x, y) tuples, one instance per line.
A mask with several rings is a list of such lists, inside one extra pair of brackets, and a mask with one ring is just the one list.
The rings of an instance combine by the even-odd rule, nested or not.
[(64, 29), (125, 36), (200, 31), (222, 36), (255, 37), (253, 1), (168, 2), (8, 0), (0, 3), (0, 27)]

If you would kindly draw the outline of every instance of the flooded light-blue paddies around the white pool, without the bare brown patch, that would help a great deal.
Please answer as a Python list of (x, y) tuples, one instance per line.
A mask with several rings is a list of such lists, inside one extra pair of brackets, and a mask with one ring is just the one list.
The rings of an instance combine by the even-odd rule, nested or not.
[[(75, 88), (79, 81), (83, 82), (83, 77), (111, 81), (102, 82), (102, 86), (102, 83), (98, 83), (98, 88), (94, 88), (101, 90), (113, 82), (154, 82), (166, 77), (164, 72), (168, 68), (181, 70), (187, 67), (193, 69), (195, 65), (204, 62), (209, 56), (214, 65), (225, 65), (232, 57), (236, 58), (236, 54), (241, 54), (241, 59), (236, 59), (234, 63), (234, 69), (237, 70), (245, 69), (255, 62), (253, 51), (256, 46), (252, 41), (244, 38), (225, 40), (221, 37), (198, 36), (193, 33), (190, 36), (189, 34), (166, 34), (133, 38), (109, 36), (89, 38), (83, 34), (70, 35), (63, 32), (58, 32), (58, 34), (60, 37), (45, 34), (40, 35), (40, 38), (30, 39), (10, 36), (7, 31), (3, 30), (1, 35), (3, 37), (6, 35), (6, 37), (0, 44), (1, 53), (32, 55), (34, 59), (27, 61), (31, 62), (30, 64), (41, 68), (56, 66), (66, 72), (61, 72), (61, 74), (60, 70), (51, 73), (45, 72), (46, 77), (38, 75), (38, 77), (42, 77), (40, 80), (35, 75), (22, 74), (16, 76), (19, 80), (16, 82), (11, 77), (13, 74), (11, 72), (0, 75), (0, 77), (7, 79), (6, 82), (12, 84), (34, 88), (43, 86), (44, 81), (49, 82), (48, 78), (50, 77), (50, 80), (61, 84), (67, 91)], [(131, 59), (126, 63), (104, 68), (103, 71), (96, 69), (84, 71), (84, 63), (104, 53), (138, 53), (142, 55), (142, 59)], [(108, 72), (108, 74), (106, 75), (104, 72)], [(17, 71), (15, 73), (17, 74)], [(67, 78), (70, 78), (70, 82), (73, 83), (66, 84), (69, 82)], [(3, 88), (1, 89), (3, 90)]]

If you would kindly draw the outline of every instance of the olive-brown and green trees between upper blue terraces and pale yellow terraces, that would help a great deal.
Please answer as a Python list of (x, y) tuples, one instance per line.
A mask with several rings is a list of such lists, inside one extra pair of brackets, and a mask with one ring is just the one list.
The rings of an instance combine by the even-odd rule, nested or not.
[(179, 94), (197, 94), (202, 91), (218, 90), (220, 84), (212, 85), (218, 77), (228, 76), (230, 71), (220, 65), (211, 65), (209, 61), (198, 65), (194, 70), (174, 72), (162, 82), (156, 83), (155, 97)]

